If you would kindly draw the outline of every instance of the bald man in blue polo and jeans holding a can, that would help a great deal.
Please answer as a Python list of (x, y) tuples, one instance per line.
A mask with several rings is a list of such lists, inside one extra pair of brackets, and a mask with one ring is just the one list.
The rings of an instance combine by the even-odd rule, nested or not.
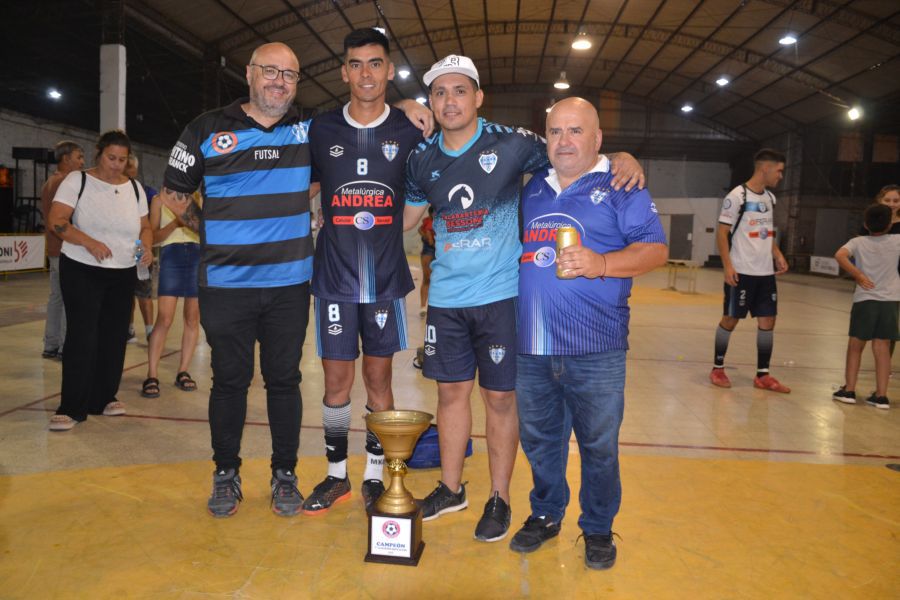
[[(569, 502), (565, 449), (574, 429), (581, 454), (578, 525), (585, 563), (594, 569), (616, 560), (612, 523), (622, 495), (618, 436), (631, 278), (668, 256), (650, 195), (613, 189), (609, 161), (598, 156), (601, 139), (588, 101), (558, 102), (547, 116), (553, 168), (535, 174), (522, 194), (516, 395), (534, 488), (531, 516), (510, 542), (512, 550), (533, 552), (559, 534)], [(560, 227), (574, 227), (580, 245), (557, 256)]]

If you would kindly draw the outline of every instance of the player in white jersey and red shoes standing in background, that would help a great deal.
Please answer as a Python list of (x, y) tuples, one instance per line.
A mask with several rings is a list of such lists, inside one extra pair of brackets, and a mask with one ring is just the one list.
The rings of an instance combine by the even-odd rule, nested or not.
[(731, 332), (749, 311), (758, 325), (753, 386), (782, 394), (791, 391), (769, 374), (778, 313), (775, 276), (788, 270), (775, 241), (775, 195), (769, 188), (784, 177), (784, 161), (784, 154), (777, 150), (760, 150), (753, 157), (753, 176), (731, 190), (722, 202), (716, 244), (725, 271), (725, 301), (709, 374), (709, 380), (719, 387), (731, 387), (725, 374), (725, 352)]

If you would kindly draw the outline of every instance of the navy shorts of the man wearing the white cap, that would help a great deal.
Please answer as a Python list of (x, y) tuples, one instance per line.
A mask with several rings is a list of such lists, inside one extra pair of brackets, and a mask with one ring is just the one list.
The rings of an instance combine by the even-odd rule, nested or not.
[(470, 308), (428, 307), (422, 373), (437, 381), (475, 379), (487, 390), (516, 388), (516, 299)]

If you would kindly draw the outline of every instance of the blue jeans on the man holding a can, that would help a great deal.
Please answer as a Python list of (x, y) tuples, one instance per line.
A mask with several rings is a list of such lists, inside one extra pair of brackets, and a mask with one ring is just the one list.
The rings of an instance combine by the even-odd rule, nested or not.
[(625, 408), (625, 351), (581, 356), (520, 354), (519, 436), (531, 463), (531, 514), (562, 522), (569, 504), (566, 463), (575, 430), (581, 454), (585, 535), (608, 534), (622, 501), (619, 426)]

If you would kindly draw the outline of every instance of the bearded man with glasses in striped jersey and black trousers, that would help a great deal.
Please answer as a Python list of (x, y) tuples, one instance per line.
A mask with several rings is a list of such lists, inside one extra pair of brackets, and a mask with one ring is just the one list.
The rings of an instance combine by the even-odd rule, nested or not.
[[(297, 514), (300, 356), (309, 320), (313, 243), (308, 121), (293, 106), (300, 63), (281, 43), (247, 65), (250, 97), (184, 129), (169, 155), (163, 203), (200, 233), (200, 320), (212, 349), (209, 396), (214, 517), (242, 499), (240, 446), (259, 340), (272, 435), (272, 510)], [(203, 184), (203, 209), (191, 192)]]

